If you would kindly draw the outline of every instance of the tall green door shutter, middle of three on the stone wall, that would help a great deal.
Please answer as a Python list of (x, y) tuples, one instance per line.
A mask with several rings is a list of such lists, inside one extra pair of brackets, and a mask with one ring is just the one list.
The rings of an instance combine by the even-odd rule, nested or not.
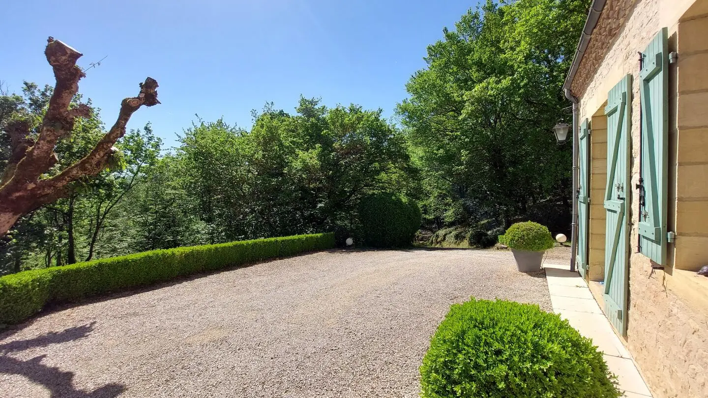
[(632, 75), (607, 94), (607, 187), (605, 189), (605, 314), (619, 334), (627, 333), (629, 288), (629, 132)]

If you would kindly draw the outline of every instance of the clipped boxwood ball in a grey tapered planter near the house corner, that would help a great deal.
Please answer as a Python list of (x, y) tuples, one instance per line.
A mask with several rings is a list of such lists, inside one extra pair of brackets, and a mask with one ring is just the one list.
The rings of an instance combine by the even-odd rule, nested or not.
[(553, 247), (554, 240), (547, 227), (527, 221), (509, 227), (499, 237), (499, 243), (509, 246), (519, 271), (537, 272), (541, 271), (544, 252)]

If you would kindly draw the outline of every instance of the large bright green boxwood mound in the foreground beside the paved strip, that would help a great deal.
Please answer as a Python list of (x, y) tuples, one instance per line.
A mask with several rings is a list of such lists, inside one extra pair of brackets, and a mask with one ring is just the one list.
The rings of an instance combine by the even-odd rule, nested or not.
[(423, 398), (616, 398), (602, 353), (537, 305), (455, 304), (421, 365)]

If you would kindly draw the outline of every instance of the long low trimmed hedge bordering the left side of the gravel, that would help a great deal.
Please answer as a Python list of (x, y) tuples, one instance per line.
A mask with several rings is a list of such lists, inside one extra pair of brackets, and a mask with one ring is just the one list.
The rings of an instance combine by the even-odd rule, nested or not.
[(144, 251), (0, 277), (0, 324), (15, 324), (50, 302), (72, 302), (267, 258), (330, 249), (334, 234), (234, 241)]

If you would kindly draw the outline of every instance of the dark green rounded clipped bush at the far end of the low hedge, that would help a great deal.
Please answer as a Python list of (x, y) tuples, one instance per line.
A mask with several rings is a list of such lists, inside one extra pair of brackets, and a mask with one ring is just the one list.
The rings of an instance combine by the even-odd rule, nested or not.
[(409, 246), (421, 227), (421, 210), (413, 200), (393, 193), (375, 193), (361, 200), (359, 219), (367, 245)]

